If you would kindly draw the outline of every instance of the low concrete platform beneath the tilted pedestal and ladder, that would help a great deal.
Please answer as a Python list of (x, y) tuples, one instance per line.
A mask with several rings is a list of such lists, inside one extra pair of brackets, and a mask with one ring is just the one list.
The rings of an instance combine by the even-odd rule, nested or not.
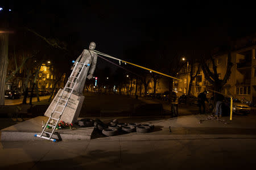
[[(34, 135), (42, 132), (42, 121), (47, 122), (47, 120), (46, 116), (38, 116), (2, 129), (1, 141), (46, 140), (34, 137)], [(61, 140), (90, 140), (94, 127), (81, 128), (77, 125), (73, 125), (73, 127), (76, 129), (58, 129), (55, 132), (59, 133)], [(58, 139), (56, 135), (53, 135), (53, 138)]]

